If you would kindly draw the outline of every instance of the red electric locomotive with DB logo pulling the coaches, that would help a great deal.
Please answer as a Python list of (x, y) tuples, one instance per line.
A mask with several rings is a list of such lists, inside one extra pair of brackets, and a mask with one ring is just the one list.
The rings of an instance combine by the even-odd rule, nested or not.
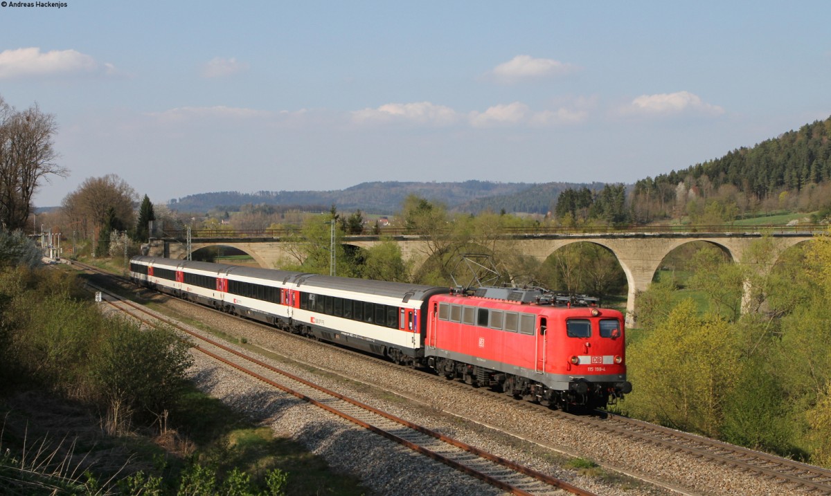
[(479, 288), (430, 298), (427, 364), (440, 375), (563, 410), (632, 391), (623, 315), (597, 299)]

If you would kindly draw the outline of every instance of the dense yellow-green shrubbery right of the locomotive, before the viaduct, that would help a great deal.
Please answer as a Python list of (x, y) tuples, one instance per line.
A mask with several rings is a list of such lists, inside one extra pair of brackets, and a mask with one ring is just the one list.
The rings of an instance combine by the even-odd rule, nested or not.
[(664, 283), (641, 295), (642, 328), (627, 349), (634, 390), (623, 405), (649, 421), (831, 466), (831, 235), (798, 254), (769, 241), (738, 264), (692, 257), (687, 284), (703, 294), (700, 307), (673, 303)]

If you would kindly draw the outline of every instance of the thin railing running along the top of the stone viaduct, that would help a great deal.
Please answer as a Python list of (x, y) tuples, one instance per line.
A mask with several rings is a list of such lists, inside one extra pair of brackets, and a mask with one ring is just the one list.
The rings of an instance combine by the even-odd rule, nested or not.
[[(720, 226), (580, 226), (580, 227), (563, 227), (563, 226), (520, 226), (520, 227), (504, 227), (499, 232), (494, 233), (506, 236), (538, 236), (538, 235), (602, 235), (602, 234), (623, 234), (623, 233), (641, 233), (641, 234), (681, 234), (681, 233), (696, 233), (696, 234), (710, 234), (710, 233), (732, 233), (732, 234), (748, 234), (748, 233), (766, 233), (766, 234), (803, 234), (814, 235), (819, 232), (826, 232), (829, 226), (824, 224), (795, 224), (793, 226), (735, 226), (730, 224)], [(284, 237), (290, 237), (300, 233), (300, 229), (196, 229), (190, 231), (191, 239), (262, 239), (271, 238), (280, 240)], [(364, 231), (360, 234), (347, 235), (348, 236), (391, 236), (391, 237), (406, 237), (406, 236), (443, 236), (450, 235), (450, 229), (440, 230), (430, 233), (421, 233), (411, 229), (402, 229), (397, 227), (382, 227), (380, 231), (373, 232), (371, 230)], [(164, 231), (160, 238), (182, 240), (187, 237), (187, 231)]]

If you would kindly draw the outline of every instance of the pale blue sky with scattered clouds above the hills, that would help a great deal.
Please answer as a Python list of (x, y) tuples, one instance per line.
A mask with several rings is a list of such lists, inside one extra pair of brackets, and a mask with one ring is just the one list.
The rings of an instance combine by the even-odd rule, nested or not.
[[(155, 204), (635, 182), (831, 116), (831, 2), (0, 2), (0, 97)], [(32, 2), (35, 3), (35, 2)]]

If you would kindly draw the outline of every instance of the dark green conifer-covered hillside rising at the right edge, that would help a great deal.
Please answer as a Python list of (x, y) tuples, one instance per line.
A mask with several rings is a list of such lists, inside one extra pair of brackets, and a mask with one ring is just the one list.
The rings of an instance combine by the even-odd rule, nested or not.
[(758, 200), (782, 191), (799, 192), (811, 183), (831, 179), (829, 139), (831, 118), (818, 120), (753, 148), (739, 148), (722, 158), (661, 174), (655, 179), (647, 177), (635, 184), (635, 190), (641, 194), (666, 193), (689, 177), (696, 182), (706, 177), (706, 186), (713, 190), (729, 184), (739, 192), (752, 193)]

